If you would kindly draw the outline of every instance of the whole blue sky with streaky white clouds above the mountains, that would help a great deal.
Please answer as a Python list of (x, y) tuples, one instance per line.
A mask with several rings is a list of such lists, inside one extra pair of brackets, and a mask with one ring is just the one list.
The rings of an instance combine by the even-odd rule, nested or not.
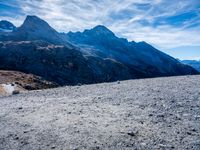
[(59, 32), (105, 25), (179, 59), (200, 59), (200, 0), (0, 0), (0, 20), (36, 15)]

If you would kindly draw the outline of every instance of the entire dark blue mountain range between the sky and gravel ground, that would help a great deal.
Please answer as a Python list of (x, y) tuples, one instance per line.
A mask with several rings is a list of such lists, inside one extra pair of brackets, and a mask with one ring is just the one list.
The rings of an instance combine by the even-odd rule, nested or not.
[(146, 42), (118, 38), (102, 25), (59, 33), (37, 16), (27, 16), (20, 27), (6, 22), (0, 23), (0, 69), (59, 85), (199, 73)]

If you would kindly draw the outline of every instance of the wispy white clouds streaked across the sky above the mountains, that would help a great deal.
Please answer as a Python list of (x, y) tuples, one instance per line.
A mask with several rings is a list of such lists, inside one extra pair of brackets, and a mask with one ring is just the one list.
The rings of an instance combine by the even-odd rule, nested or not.
[[(82, 31), (103, 24), (118, 36), (129, 40), (147, 41), (161, 48), (183, 45), (198, 45), (200, 30), (185, 29), (193, 22), (186, 22), (183, 27), (171, 25), (142, 25), (141, 20), (150, 24), (158, 17), (169, 17), (191, 10), (197, 0), (181, 0), (174, 3), (169, 0), (16, 0), (18, 7), (26, 15), (37, 15), (46, 20), (60, 32)], [(7, 2), (8, 3), (8, 2)], [(148, 9), (140, 9), (136, 4), (149, 4)], [(133, 15), (125, 19), (114, 19), (123, 10)], [(2, 16), (1, 16), (2, 18)], [(5, 16), (17, 25), (25, 15), (17, 18)]]

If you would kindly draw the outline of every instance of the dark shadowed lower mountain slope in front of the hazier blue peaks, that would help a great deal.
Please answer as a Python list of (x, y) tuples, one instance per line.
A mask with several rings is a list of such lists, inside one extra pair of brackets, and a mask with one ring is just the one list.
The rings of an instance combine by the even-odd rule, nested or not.
[(126, 66), (112, 59), (86, 57), (44, 41), (1, 42), (0, 69), (32, 73), (60, 85), (133, 78)]

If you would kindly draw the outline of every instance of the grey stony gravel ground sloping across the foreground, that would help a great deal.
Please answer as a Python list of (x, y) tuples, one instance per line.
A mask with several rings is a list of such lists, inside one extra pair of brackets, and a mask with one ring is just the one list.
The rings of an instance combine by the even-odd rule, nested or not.
[(0, 150), (200, 149), (200, 76), (0, 97)]

